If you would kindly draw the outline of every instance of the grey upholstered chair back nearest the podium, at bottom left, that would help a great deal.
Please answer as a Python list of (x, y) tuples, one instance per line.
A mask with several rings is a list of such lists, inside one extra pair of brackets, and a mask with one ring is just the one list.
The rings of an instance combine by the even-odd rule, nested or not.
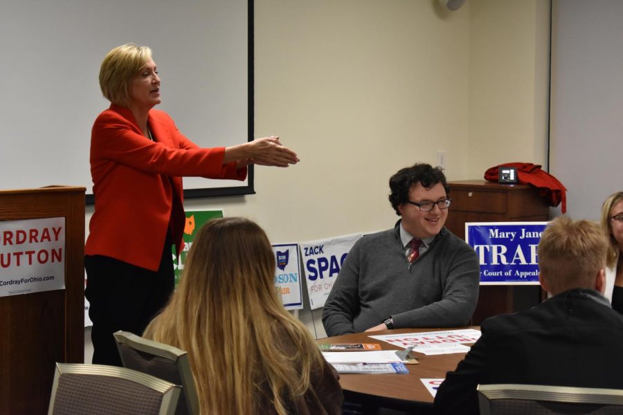
[(180, 387), (123, 367), (57, 363), (48, 415), (171, 415)]

